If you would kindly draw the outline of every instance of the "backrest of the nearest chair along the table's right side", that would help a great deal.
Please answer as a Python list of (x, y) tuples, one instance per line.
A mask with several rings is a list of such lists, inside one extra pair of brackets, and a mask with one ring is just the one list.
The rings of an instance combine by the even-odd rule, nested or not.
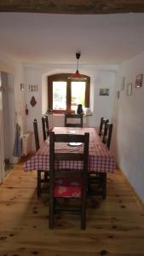
[(106, 144), (107, 148), (110, 149), (111, 139), (112, 139), (112, 124), (107, 123), (105, 125), (105, 131), (102, 138), (102, 143)]

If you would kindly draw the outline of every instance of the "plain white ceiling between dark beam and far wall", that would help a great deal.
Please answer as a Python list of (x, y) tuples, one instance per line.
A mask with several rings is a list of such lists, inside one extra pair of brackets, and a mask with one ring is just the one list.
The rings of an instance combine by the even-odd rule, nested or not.
[(118, 64), (144, 50), (144, 14), (0, 13), (0, 52), (24, 63)]

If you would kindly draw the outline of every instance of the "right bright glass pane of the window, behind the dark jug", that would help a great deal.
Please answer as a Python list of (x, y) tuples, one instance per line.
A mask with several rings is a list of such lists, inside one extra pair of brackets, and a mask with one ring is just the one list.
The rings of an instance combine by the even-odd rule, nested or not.
[(71, 109), (76, 110), (78, 104), (85, 105), (85, 82), (72, 82), (72, 105)]

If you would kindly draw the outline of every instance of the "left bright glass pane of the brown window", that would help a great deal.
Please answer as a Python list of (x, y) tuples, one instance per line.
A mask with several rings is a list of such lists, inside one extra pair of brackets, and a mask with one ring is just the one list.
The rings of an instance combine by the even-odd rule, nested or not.
[(66, 110), (66, 82), (53, 82), (53, 109)]

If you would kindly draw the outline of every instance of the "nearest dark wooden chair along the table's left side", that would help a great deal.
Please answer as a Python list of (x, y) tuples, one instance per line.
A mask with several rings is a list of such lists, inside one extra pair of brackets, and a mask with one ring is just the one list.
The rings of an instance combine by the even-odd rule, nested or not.
[[(33, 121), (33, 129), (34, 129), (34, 137), (35, 137), (35, 146), (36, 151), (40, 148), (39, 146), (39, 136), (38, 136), (38, 129), (37, 129), (37, 119)], [(42, 177), (42, 173), (44, 177)], [(47, 182), (49, 178), (49, 172), (43, 170), (37, 170), (37, 197), (41, 196), (42, 188), (41, 184)]]

